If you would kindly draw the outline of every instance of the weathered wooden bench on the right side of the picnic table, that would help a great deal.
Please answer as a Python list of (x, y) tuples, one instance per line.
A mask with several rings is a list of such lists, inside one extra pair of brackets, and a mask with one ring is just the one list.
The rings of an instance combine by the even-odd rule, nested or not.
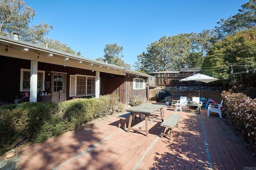
[[(168, 136), (168, 131), (170, 130), (170, 141), (172, 141), (172, 129), (177, 125), (178, 121), (180, 120), (180, 115), (170, 115), (165, 119), (160, 126), (164, 127), (161, 137)], [(167, 131), (164, 133), (165, 128), (168, 128)]]

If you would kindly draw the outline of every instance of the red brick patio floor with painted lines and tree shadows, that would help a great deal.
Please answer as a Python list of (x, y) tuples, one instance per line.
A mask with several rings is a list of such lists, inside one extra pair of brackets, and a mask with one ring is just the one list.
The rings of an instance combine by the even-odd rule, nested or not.
[[(163, 103), (160, 103), (163, 104)], [(80, 131), (70, 131), (22, 150), (20, 170), (246, 170), (256, 157), (217, 114), (175, 112), (164, 107), (164, 119), (181, 115), (173, 140), (160, 138), (161, 121), (150, 121), (149, 135), (118, 128), (116, 115)], [(155, 114), (159, 116), (159, 114)], [(144, 124), (137, 122), (135, 126)]]

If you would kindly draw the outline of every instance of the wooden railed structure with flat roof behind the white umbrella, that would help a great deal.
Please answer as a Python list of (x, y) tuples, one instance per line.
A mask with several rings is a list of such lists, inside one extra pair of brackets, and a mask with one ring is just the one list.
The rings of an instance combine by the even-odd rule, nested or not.
[(179, 80), (197, 74), (199, 71), (199, 68), (180, 68), (180, 71), (158, 71), (149, 74), (154, 76), (156, 86), (184, 86), (189, 85), (188, 83), (196, 85), (193, 82), (179, 82)]

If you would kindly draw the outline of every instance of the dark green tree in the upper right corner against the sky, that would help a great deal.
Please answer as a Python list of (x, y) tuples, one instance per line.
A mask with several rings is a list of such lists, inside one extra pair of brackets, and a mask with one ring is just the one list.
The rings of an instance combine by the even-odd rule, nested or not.
[(218, 35), (218, 39), (256, 26), (255, 11), (256, 0), (249, 0), (249, 2), (242, 5), (242, 9), (238, 10), (238, 14), (230, 16), (227, 20), (221, 19), (217, 22), (220, 26), (216, 26), (214, 31)]

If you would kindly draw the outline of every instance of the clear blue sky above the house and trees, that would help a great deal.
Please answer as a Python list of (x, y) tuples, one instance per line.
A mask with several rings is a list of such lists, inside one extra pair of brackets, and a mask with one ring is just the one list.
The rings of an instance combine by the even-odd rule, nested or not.
[(214, 29), (249, 0), (24, 0), (36, 11), (32, 24), (53, 26), (48, 38), (96, 59), (106, 44), (122, 46), (125, 63), (161, 37)]

